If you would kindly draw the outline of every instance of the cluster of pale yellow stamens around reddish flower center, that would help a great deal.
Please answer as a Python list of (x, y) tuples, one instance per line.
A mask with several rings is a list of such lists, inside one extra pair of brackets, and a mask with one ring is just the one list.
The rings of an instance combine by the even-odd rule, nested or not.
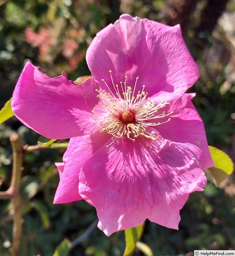
[[(145, 85), (142, 86), (142, 91), (135, 92), (138, 76), (132, 88), (127, 86), (127, 76), (125, 76), (123, 83), (120, 82), (120, 85), (115, 85), (112, 71), (110, 70), (109, 72), (114, 91), (102, 79), (109, 92), (96, 89), (100, 103), (92, 111), (97, 117), (94, 120), (97, 121), (100, 132), (106, 131), (112, 134), (114, 140), (127, 136), (128, 139), (135, 141), (135, 138), (140, 136), (146, 146), (148, 144), (145, 138), (153, 141), (157, 140), (158, 137), (149, 131), (148, 127), (164, 124), (171, 120), (170, 118), (165, 119), (165, 117), (171, 115), (173, 111), (159, 113), (160, 109), (165, 108), (170, 102), (162, 101), (157, 104), (154, 100), (151, 100), (151, 98), (147, 97), (148, 92), (145, 92)], [(157, 121), (162, 118), (164, 119), (163, 121)]]

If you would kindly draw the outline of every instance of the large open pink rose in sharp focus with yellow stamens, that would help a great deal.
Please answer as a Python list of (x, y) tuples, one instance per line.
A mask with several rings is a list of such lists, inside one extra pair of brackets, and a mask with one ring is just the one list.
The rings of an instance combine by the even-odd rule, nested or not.
[(149, 220), (178, 229), (180, 209), (213, 166), (203, 122), (185, 91), (198, 79), (179, 25), (122, 15), (86, 53), (93, 78), (50, 78), (27, 63), (15, 115), (48, 138), (71, 138), (55, 203), (84, 199), (106, 235)]

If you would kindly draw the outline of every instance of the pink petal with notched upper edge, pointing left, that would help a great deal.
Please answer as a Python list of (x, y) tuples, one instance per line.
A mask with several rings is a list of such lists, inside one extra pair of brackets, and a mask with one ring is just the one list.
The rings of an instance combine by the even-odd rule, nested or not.
[(81, 85), (66, 76), (51, 78), (30, 62), (24, 67), (12, 97), (12, 110), (27, 127), (47, 138), (65, 139), (97, 130), (91, 113), (98, 103), (92, 78)]

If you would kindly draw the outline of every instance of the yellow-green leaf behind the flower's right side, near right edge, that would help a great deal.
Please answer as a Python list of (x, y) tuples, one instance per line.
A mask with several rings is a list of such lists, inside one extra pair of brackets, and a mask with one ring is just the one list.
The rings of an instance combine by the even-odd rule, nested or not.
[(231, 158), (222, 150), (212, 146), (209, 146), (209, 150), (215, 166), (208, 168), (208, 170), (214, 178), (215, 186), (218, 187), (219, 184), (233, 172), (234, 164)]

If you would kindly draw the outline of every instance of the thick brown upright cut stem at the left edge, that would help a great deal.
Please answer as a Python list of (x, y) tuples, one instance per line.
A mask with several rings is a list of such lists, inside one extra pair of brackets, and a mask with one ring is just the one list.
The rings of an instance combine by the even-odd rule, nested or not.
[(12, 180), (8, 190), (0, 192), (0, 199), (11, 199), (14, 216), (12, 256), (18, 256), (23, 224), (20, 205), (20, 179), (23, 163), (23, 150), (17, 133), (12, 133), (10, 135), (10, 141), (13, 153)]

